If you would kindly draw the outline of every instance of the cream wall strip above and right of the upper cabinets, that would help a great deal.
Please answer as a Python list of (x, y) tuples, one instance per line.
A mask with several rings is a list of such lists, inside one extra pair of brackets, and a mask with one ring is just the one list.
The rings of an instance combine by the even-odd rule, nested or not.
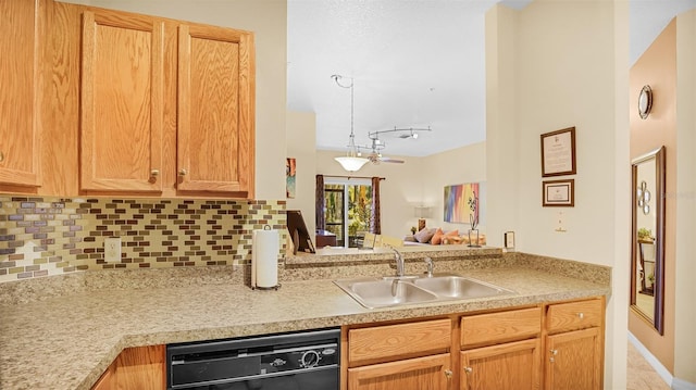
[(286, 0), (70, 0), (254, 33), (256, 198), (285, 199)]

